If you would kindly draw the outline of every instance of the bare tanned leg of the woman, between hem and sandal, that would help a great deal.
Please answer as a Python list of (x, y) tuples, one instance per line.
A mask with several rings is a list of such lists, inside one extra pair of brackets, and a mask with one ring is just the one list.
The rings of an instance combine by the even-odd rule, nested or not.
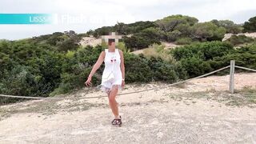
[(108, 96), (109, 96), (110, 108), (112, 110), (112, 113), (114, 114), (114, 118), (119, 118), (118, 102), (115, 100), (117, 94), (118, 94), (118, 86), (113, 86)]

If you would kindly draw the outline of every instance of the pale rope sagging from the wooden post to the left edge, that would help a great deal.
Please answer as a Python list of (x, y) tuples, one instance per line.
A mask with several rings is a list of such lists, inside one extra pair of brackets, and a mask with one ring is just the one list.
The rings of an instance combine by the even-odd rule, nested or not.
[[(169, 86), (174, 86), (174, 85), (178, 85), (180, 83), (184, 83), (184, 82), (188, 82), (188, 81), (191, 81), (191, 80), (194, 80), (194, 79), (197, 79), (197, 78), (203, 78), (203, 77), (206, 77), (210, 74), (214, 74), (214, 73), (217, 73), (218, 71), (221, 71), (221, 70), (225, 70), (227, 68), (229, 68), (230, 66), (226, 66), (226, 67), (223, 67), (221, 69), (218, 69), (218, 70), (214, 70), (210, 73), (207, 73), (207, 74), (203, 74), (203, 75), (200, 75), (198, 77), (195, 77), (195, 78), (189, 78), (189, 79), (186, 79), (185, 81), (181, 81), (181, 82), (174, 82), (172, 84), (169, 84), (167, 86), (158, 86), (158, 87), (155, 87), (155, 88), (151, 88), (151, 89), (147, 89), (147, 90), (138, 90), (138, 91), (134, 91), (134, 92), (128, 92), (128, 93), (123, 93), (123, 94), (117, 94), (117, 95), (126, 95), (126, 94), (134, 94), (134, 93), (141, 93), (141, 92), (144, 92), (144, 91), (150, 91), (150, 90), (158, 90), (158, 89), (162, 89), (162, 88), (165, 88), (165, 87), (169, 87)], [(239, 68), (240, 66), (238, 66)], [(256, 71), (256, 70), (255, 70)], [(103, 98), (103, 97), (108, 97), (108, 96), (98, 96), (98, 97), (77, 97), (77, 98), (52, 98), (52, 97), (29, 97), (29, 96), (15, 96), (15, 95), (6, 95), (6, 94), (0, 94), (0, 97), (7, 97), (7, 98), (29, 98), (29, 99), (77, 99), (77, 98)]]

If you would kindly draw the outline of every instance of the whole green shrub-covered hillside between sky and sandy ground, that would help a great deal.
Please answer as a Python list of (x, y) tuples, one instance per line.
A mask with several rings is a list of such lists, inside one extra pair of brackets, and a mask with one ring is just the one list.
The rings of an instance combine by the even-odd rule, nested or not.
[[(124, 52), (126, 83), (173, 83), (227, 66), (231, 59), (256, 69), (255, 38), (234, 35), (222, 42), (226, 33), (253, 32), (254, 22), (254, 18), (245, 26), (228, 20), (198, 22), (178, 14), (154, 22), (104, 26), (85, 34), (70, 30), (0, 40), (0, 94), (48, 97), (84, 88), (98, 55), (106, 48), (98, 45), (98, 38), (110, 31), (124, 35), (118, 48)], [(94, 86), (101, 82), (103, 66), (94, 74)], [(0, 98), (0, 105), (16, 101)]]

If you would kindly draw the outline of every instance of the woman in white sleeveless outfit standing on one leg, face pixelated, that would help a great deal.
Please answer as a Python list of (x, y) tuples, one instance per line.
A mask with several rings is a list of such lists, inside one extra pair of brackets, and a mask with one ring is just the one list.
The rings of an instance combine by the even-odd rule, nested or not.
[[(90, 71), (87, 81), (85, 82), (86, 86), (90, 86), (91, 77), (102, 65), (103, 61), (105, 63), (105, 68), (102, 74), (101, 90), (105, 91), (109, 98), (109, 105), (114, 114), (114, 119), (111, 122), (112, 125), (121, 126), (121, 115), (118, 113), (118, 102), (116, 102), (115, 98), (118, 94), (118, 90), (122, 90), (125, 86), (125, 65), (122, 50), (115, 48), (114, 39), (109, 39), (108, 49), (105, 49), (105, 51), (102, 51), (99, 55), (97, 62), (94, 64), (94, 67)], [(103, 81), (103, 77), (105, 78), (112, 70), (114, 79)]]

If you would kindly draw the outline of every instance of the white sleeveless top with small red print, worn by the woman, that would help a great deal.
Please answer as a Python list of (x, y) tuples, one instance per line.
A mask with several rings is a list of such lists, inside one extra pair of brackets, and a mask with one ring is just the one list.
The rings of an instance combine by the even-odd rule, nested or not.
[(114, 85), (122, 84), (122, 71), (120, 68), (121, 57), (119, 54), (119, 50), (115, 48), (114, 52), (109, 52), (108, 49), (105, 49), (105, 58), (104, 58), (105, 68), (103, 70), (103, 75), (110, 74), (113, 69), (114, 73), (114, 81), (112, 82)]

